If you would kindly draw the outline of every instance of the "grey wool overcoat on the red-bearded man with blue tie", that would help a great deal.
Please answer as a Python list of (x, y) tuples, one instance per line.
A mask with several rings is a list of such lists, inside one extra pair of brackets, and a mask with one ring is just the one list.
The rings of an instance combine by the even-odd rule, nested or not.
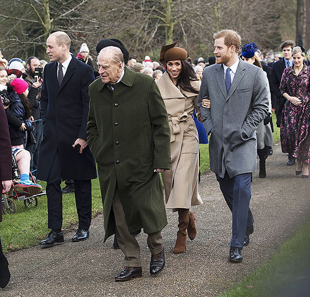
[[(201, 106), (209, 97), (210, 109)], [(255, 129), (268, 113), (268, 91), (261, 68), (239, 59), (227, 94), (221, 64), (203, 71), (198, 104), (209, 138), (210, 169), (224, 177), (256, 171)]]

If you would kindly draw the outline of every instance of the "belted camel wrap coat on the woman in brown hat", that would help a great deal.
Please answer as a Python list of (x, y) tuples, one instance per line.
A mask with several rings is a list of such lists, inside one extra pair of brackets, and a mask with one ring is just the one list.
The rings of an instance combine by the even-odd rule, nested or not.
[[(200, 117), (198, 94), (177, 88), (167, 72), (156, 83), (170, 126), (171, 169), (162, 174), (166, 208), (189, 209), (191, 205), (202, 204), (198, 193), (198, 133), (192, 116), (195, 109), (198, 119)], [(192, 81), (191, 85), (199, 91), (200, 80)]]

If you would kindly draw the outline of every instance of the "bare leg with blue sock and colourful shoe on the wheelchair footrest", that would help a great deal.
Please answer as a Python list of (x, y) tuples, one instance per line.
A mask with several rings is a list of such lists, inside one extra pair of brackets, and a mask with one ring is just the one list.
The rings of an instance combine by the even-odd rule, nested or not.
[[(12, 147), (12, 169), (13, 178), (15, 178), (16, 182), (14, 183), (14, 190), (17, 193), (36, 195), (42, 191), (40, 185), (30, 181), (30, 153), (27, 150)], [(18, 181), (18, 177), (20, 181)]]

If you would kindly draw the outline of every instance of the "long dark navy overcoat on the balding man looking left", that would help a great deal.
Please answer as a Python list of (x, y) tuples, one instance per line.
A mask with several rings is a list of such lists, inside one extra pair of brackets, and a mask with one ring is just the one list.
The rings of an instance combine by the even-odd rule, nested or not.
[(39, 150), (38, 179), (46, 181), (57, 149), (63, 180), (96, 178), (95, 162), (88, 146), (82, 154), (72, 148), (77, 138), (87, 138), (88, 86), (93, 80), (92, 68), (74, 56), (60, 87), (57, 62), (45, 66), (40, 100), (44, 136)]

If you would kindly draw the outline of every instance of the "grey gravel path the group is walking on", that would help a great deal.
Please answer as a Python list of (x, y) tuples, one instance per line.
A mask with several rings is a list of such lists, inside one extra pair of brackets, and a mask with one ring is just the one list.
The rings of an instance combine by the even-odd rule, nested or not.
[(7, 253), (12, 274), (1, 297), (9, 296), (217, 296), (247, 273), (265, 262), (281, 242), (310, 214), (310, 179), (294, 174), (286, 166), (287, 157), (274, 146), (267, 159), (267, 177), (253, 174), (250, 206), (254, 215), (254, 233), (243, 248), (243, 261), (228, 261), (231, 213), (224, 202), (215, 175), (201, 176), (199, 192), (203, 205), (192, 208), (197, 236), (187, 240), (185, 253), (172, 249), (177, 231), (176, 213), (167, 212), (168, 225), (163, 230), (166, 266), (151, 277), (150, 254), (144, 233), (137, 236), (143, 260), (143, 277), (115, 282), (122, 269), (122, 252), (113, 250), (112, 237), (103, 244), (102, 215), (92, 220), (90, 237), (73, 243), (73, 232), (65, 233), (65, 243), (52, 248), (31, 248)]

